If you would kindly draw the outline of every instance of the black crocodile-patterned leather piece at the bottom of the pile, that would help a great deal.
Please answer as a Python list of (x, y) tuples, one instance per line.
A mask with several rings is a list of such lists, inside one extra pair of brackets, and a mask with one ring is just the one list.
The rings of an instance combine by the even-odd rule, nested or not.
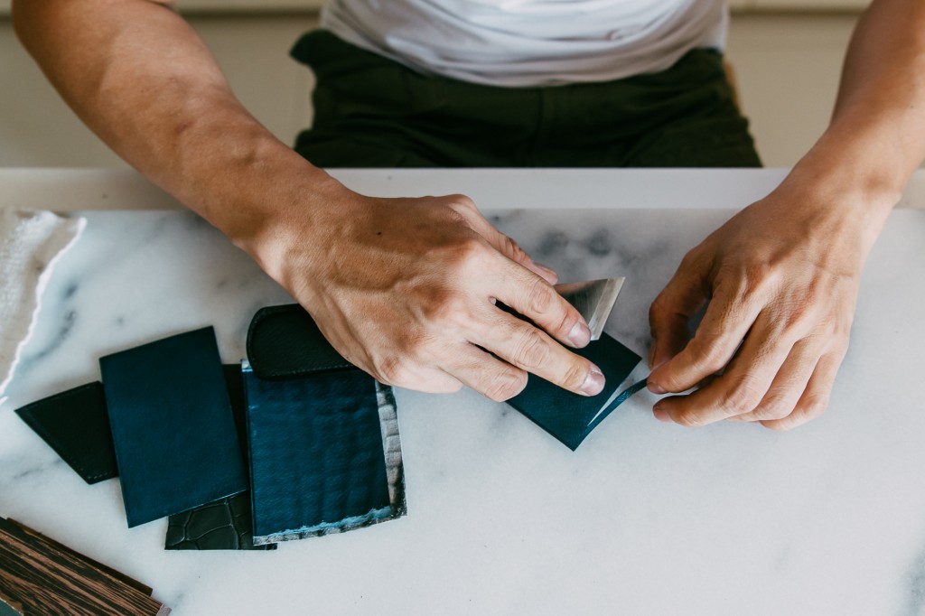
[(191, 511), (171, 515), (165, 549), (276, 549), (254, 546), (251, 494), (241, 492)]

